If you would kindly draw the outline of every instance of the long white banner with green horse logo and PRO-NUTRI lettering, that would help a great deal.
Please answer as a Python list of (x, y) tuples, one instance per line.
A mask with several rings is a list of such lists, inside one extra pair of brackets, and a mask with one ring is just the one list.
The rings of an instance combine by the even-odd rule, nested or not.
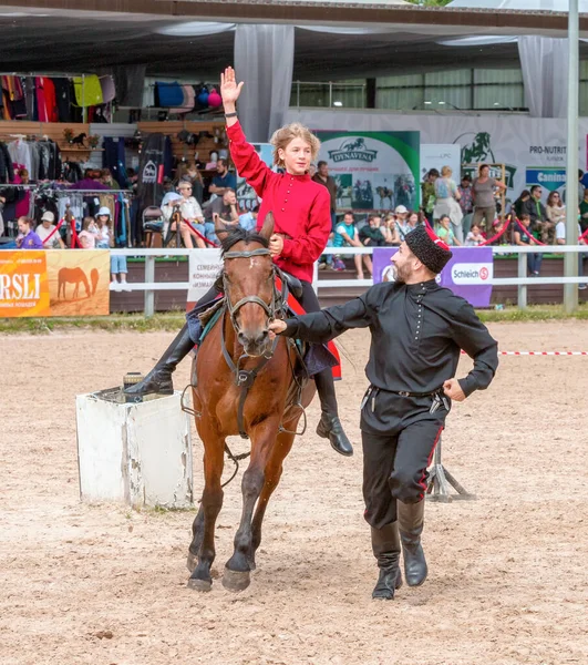
[[(505, 165), (508, 201), (515, 201), (526, 188), (527, 170), (566, 168), (566, 123), (558, 119), (470, 113), (402, 115), (340, 110), (333, 113), (318, 109), (290, 109), (286, 121), (302, 122), (322, 131), (342, 126), (355, 127), (360, 133), (415, 131), (420, 132), (423, 144), (455, 144), (460, 146), (462, 164)], [(582, 136), (577, 146), (579, 167), (586, 171), (588, 143), (584, 137), (588, 135), (588, 119), (579, 120), (578, 133)], [(475, 167), (471, 171), (475, 172)], [(549, 188), (544, 186), (543, 192), (545, 201)]]

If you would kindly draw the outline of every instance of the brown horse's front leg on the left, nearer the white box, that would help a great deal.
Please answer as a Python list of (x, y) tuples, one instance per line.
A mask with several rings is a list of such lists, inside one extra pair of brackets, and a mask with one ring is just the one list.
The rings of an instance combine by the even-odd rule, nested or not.
[[(196, 532), (194, 533), (190, 552), (196, 541), (199, 544), (198, 564), (188, 580), (190, 589), (198, 591), (210, 591), (213, 579), (210, 576), (210, 566), (215, 560), (215, 524), (220, 508), (223, 507), (223, 488), (220, 487), (220, 477), (225, 464), (225, 439), (209, 419), (205, 416), (200, 419), (198, 433), (204, 441), (204, 492), (200, 510), (194, 521)], [(200, 520), (198, 516), (200, 515)], [(199, 524), (203, 523), (204, 529)]]

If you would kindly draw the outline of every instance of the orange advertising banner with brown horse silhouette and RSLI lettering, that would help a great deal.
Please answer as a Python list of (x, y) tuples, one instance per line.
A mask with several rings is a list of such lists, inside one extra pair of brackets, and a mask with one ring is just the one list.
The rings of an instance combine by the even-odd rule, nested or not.
[(105, 316), (110, 252), (50, 249), (0, 253), (0, 317)]

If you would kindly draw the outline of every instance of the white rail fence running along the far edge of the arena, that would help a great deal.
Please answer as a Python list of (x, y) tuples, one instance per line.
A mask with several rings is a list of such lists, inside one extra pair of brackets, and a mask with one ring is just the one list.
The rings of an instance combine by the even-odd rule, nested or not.
[[(327, 247), (323, 255), (354, 255), (372, 254), (372, 247)], [(214, 252), (214, 249), (210, 249)], [(153, 316), (155, 311), (155, 291), (157, 290), (185, 290), (189, 288), (188, 282), (155, 282), (155, 259), (157, 257), (188, 256), (190, 249), (111, 249), (112, 254), (133, 257), (145, 257), (145, 280), (142, 283), (130, 283), (131, 290), (145, 291), (145, 316)], [(584, 284), (587, 277), (527, 277), (526, 254), (588, 254), (586, 245), (559, 245), (559, 246), (533, 246), (523, 247), (518, 245), (501, 245), (492, 247), (495, 254), (517, 254), (517, 277), (493, 277), (494, 286), (518, 286), (518, 307), (527, 306), (527, 286), (540, 284)], [(369, 288), (373, 285), (372, 279), (318, 279), (318, 264), (314, 264), (313, 287), (317, 293), (321, 288), (349, 288), (361, 286)]]

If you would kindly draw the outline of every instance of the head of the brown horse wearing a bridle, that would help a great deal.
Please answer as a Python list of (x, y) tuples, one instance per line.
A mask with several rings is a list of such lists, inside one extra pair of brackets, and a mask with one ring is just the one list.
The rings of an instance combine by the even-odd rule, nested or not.
[(257, 233), (241, 227), (217, 231), (223, 245), (223, 279), (233, 327), (248, 356), (270, 352), (268, 325), (276, 315), (274, 264), (269, 238), (274, 233), (274, 215), (268, 213)]

